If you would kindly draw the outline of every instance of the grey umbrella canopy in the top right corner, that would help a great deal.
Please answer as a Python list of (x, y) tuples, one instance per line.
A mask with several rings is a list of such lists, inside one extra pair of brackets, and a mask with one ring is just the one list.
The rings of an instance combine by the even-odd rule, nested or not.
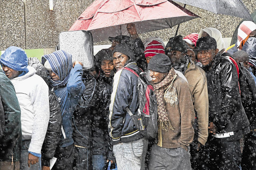
[(238, 16), (252, 21), (250, 13), (242, 0), (174, 0), (199, 7), (214, 13)]

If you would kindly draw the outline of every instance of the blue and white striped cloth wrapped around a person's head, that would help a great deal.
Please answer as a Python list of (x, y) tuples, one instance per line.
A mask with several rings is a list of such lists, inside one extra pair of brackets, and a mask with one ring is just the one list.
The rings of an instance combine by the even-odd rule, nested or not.
[(54, 51), (51, 54), (43, 55), (41, 58), (42, 65), (49, 62), (52, 72), (58, 75), (59, 80), (53, 81), (48, 75), (49, 85), (52, 87), (66, 85), (69, 73), (72, 69), (72, 56), (63, 50)]

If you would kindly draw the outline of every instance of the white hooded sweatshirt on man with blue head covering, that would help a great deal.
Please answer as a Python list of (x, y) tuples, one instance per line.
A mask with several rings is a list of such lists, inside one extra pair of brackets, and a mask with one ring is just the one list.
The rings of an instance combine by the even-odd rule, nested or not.
[(10, 79), (21, 110), (22, 140), (31, 140), (28, 152), (41, 154), (49, 122), (48, 86), (27, 66), (28, 73)]

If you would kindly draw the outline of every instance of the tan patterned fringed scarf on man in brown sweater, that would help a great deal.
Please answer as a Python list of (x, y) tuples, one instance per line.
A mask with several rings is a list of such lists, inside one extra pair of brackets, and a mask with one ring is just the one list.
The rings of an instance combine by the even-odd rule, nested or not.
[(175, 74), (176, 73), (174, 69), (171, 68), (168, 75), (160, 83), (153, 85), (154, 93), (156, 96), (156, 103), (157, 103), (158, 126), (165, 132), (169, 132), (168, 128), (170, 128), (171, 130), (174, 130), (170, 124), (170, 120), (166, 112), (163, 96), (164, 96), (164, 91), (168, 88), (169, 84), (172, 82), (173, 76)]

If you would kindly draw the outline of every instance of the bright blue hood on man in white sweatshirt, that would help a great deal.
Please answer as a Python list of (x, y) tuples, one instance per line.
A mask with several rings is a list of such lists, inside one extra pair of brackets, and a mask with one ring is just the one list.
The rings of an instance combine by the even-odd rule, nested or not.
[(19, 47), (8, 47), (1, 55), (0, 64), (16, 71), (28, 71), (26, 53)]

